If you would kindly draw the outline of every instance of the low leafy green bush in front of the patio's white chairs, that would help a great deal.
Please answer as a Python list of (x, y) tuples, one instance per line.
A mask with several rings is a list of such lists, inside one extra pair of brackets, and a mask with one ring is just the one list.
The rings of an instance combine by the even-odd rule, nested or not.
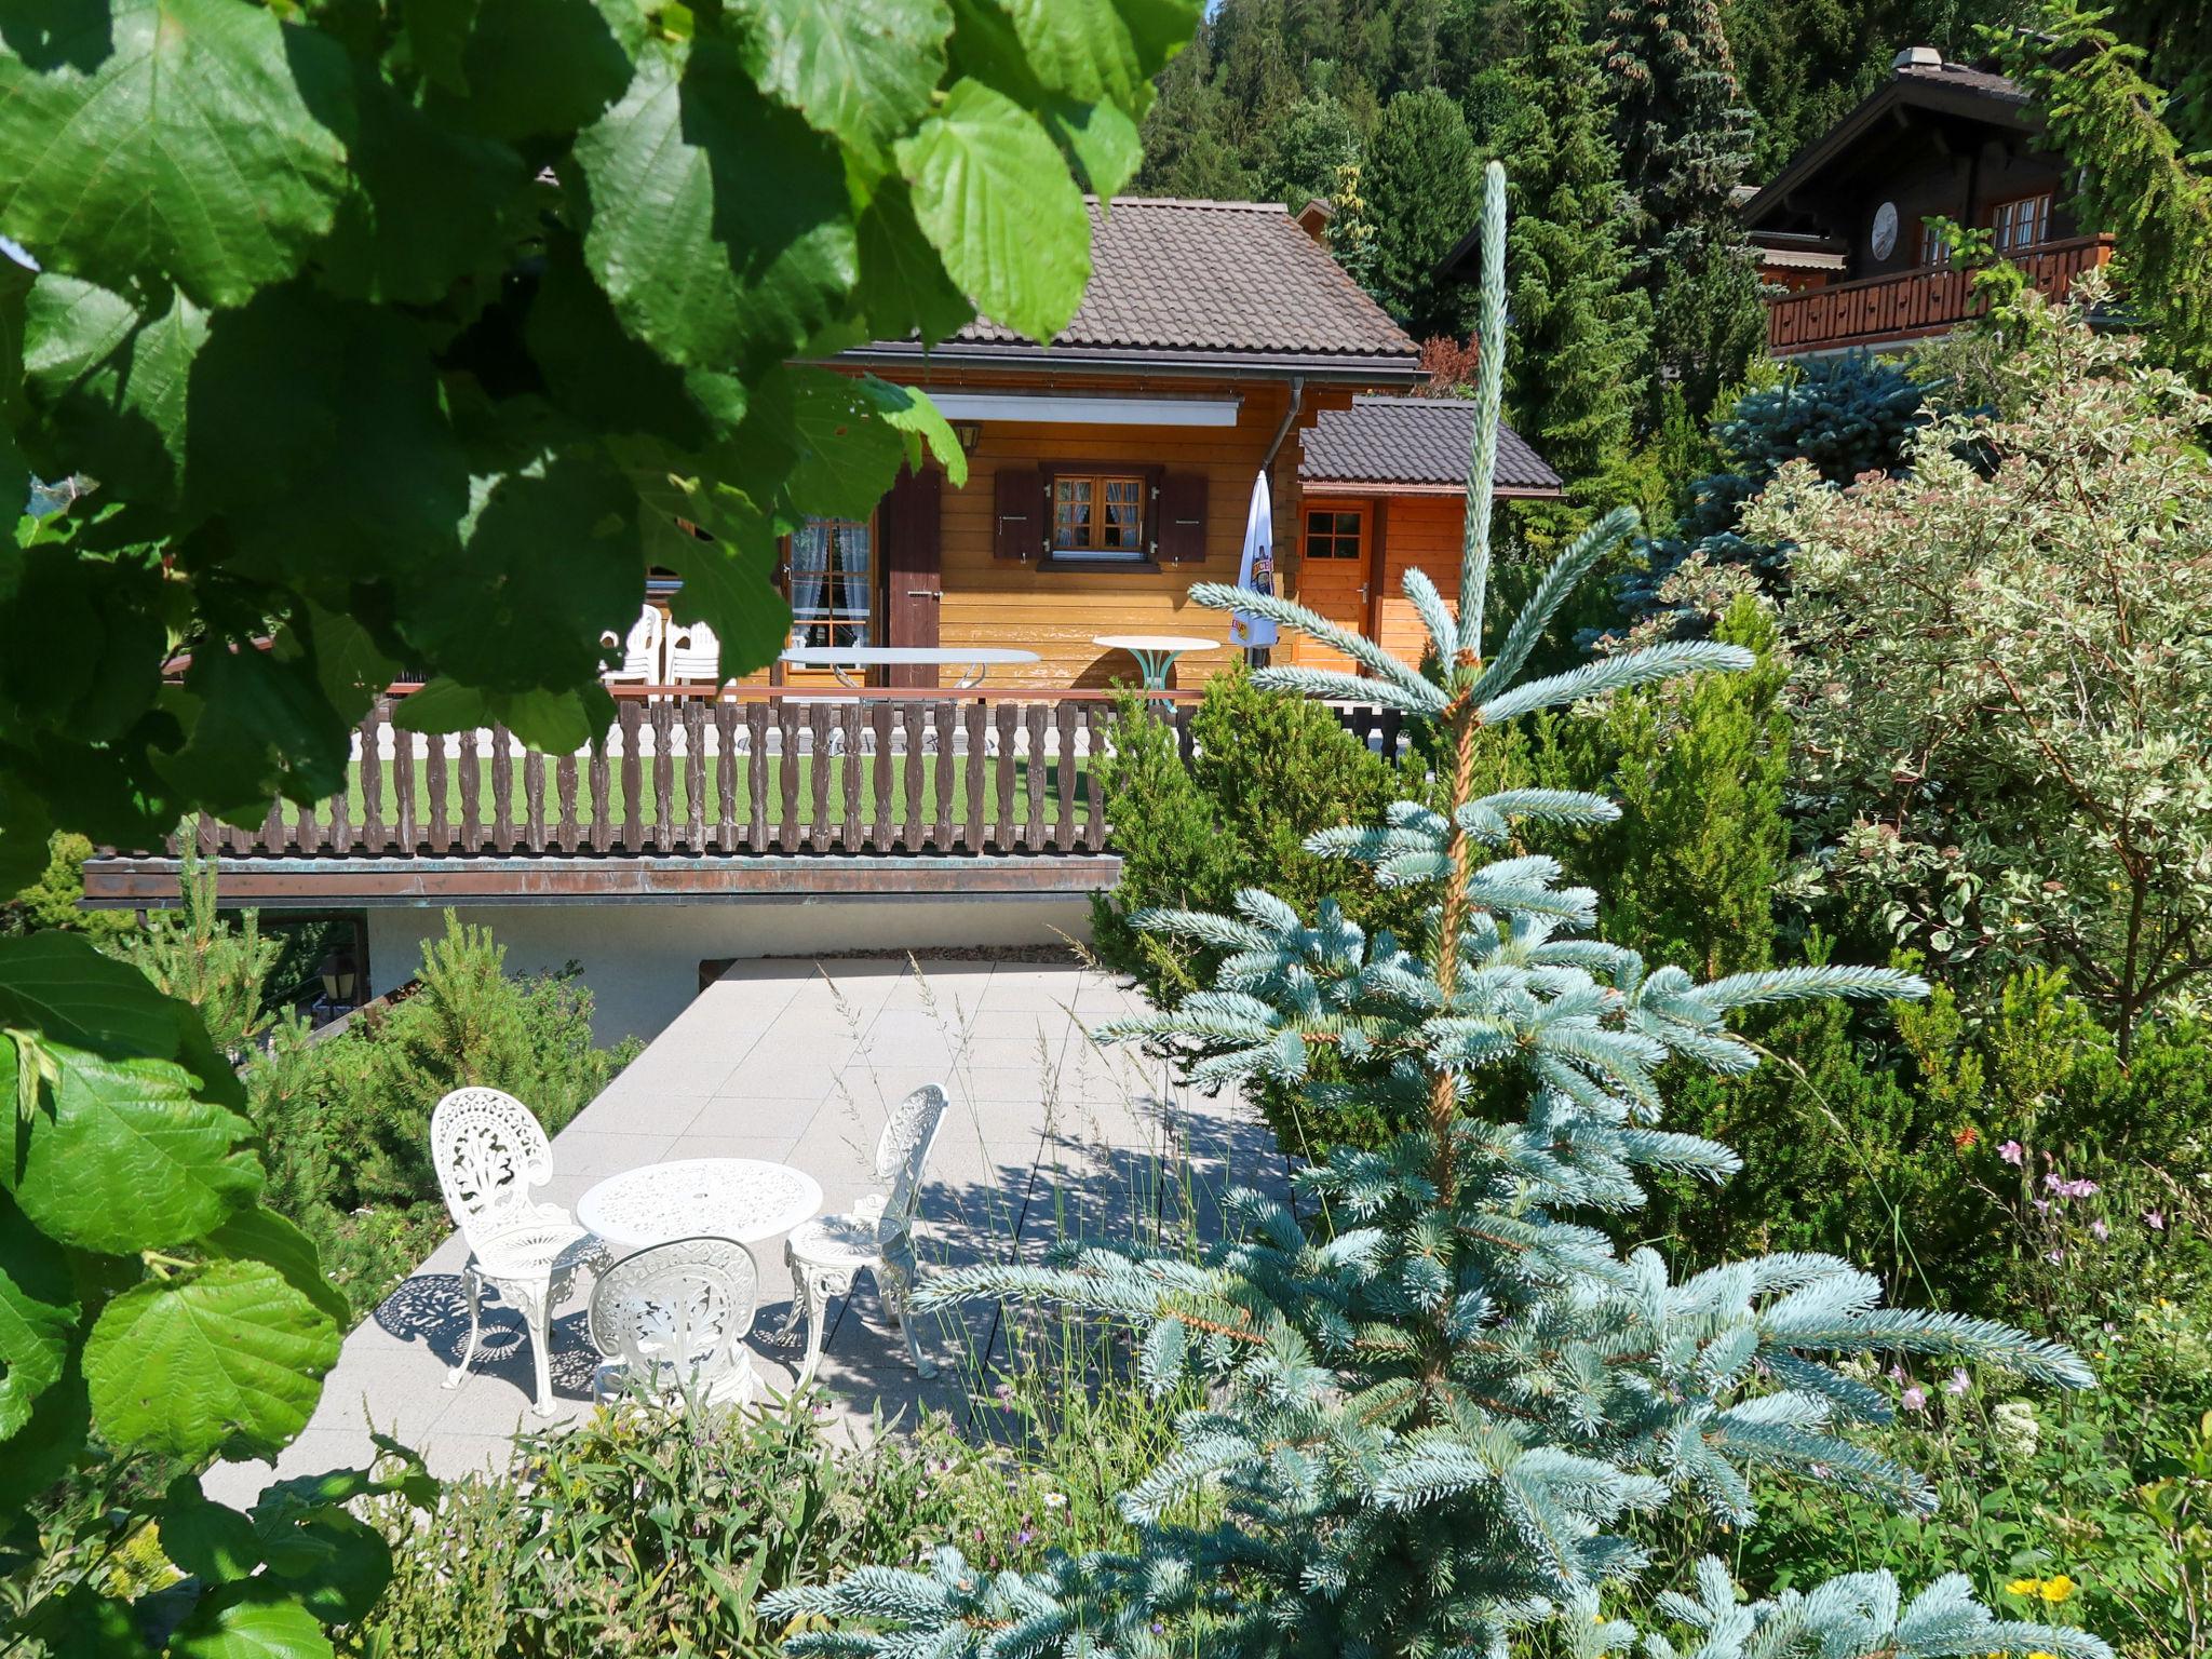
[[(701, 1418), (624, 1405), (526, 1433), (511, 1471), (453, 1482), (429, 1526), (383, 1509), (392, 1593), (354, 1650), (765, 1655), (785, 1624), (763, 1621), (757, 1597), (852, 1562), (958, 1544), (989, 1571), (1033, 1571), (1053, 1551), (1126, 1548), (1115, 1495), (1172, 1444), (1188, 1400), (1155, 1402), (1126, 1356), (1073, 1327), (1018, 1336), (1015, 1352), (995, 1389), (969, 1378), (984, 1407), (969, 1433), (927, 1416), (852, 1438), (805, 1400)], [(1102, 1363), (1117, 1383), (1086, 1387)]]

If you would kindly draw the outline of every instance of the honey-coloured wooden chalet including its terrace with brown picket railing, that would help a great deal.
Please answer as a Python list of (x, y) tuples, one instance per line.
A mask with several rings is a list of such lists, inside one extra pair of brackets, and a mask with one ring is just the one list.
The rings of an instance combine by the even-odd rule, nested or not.
[[(1237, 580), (1261, 471), (1283, 591), (1405, 648), (1402, 571), (1451, 588), (1471, 405), (1405, 396), (1422, 380), (1413, 341), (1318, 230), (1318, 215), (1248, 201), (1093, 204), (1091, 288), (1051, 345), (978, 321), (927, 352), (880, 341), (836, 358), (925, 387), (969, 478), (902, 473), (869, 518), (787, 538), (792, 644), (1015, 648), (1033, 664), (980, 686), (951, 664), (865, 684), (776, 666), (719, 686), (712, 650), (684, 650), (681, 591), (655, 584), (666, 672), (613, 686), (602, 741), (542, 757), (502, 730), (422, 739), (394, 726), (409, 692), (394, 686), (363, 721), (345, 794), (190, 832), (226, 900), (358, 916), (374, 991), (411, 969), (436, 907), (462, 907), (509, 940), (511, 967), (622, 964), (595, 980), (604, 1009), (659, 987), (653, 1011), (608, 1015), (611, 1031), (653, 1029), (701, 962), (779, 942), (1079, 931), (1119, 865), (1097, 761), (1115, 684), (1137, 679), (1095, 635), (1221, 641), (1183, 655), (1157, 701), (1188, 743), (1197, 686), (1241, 657), (1228, 617), (1188, 591)], [(1509, 440), (1500, 493), (1557, 489)], [(1396, 717), (1343, 719), (1385, 752), (1400, 741)], [(170, 905), (179, 854), (91, 860), (86, 900)], [(836, 900), (874, 900), (865, 925), (843, 922), (854, 938)]]

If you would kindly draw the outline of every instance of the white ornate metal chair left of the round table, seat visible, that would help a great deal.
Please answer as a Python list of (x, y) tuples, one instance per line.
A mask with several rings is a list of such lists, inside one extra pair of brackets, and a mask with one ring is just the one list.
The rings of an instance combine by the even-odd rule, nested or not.
[(469, 1292), (469, 1347), (445, 1378), (458, 1389), (476, 1363), (484, 1285), (511, 1303), (531, 1334), (538, 1363), (533, 1409), (553, 1409), (551, 1312), (568, 1296), (582, 1267), (606, 1261), (606, 1243), (580, 1228), (557, 1203), (538, 1203), (531, 1188), (553, 1175), (553, 1146), (531, 1108), (498, 1088), (456, 1088), (429, 1115), (429, 1157), (453, 1225), (469, 1241), (460, 1270)]

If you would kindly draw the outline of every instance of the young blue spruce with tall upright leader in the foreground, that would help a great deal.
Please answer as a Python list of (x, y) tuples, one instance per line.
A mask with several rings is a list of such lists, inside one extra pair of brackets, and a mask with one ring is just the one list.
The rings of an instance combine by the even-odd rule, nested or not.
[[(1504, 175), (1484, 179), (1482, 338), (1502, 338)], [(2066, 1349), (1955, 1314), (1887, 1310), (1834, 1256), (1739, 1261), (1674, 1283), (1652, 1250), (1619, 1256), (1573, 1219), (1641, 1201), (1641, 1170), (1723, 1179), (1728, 1148), (1655, 1126), (1661, 1062), (1745, 1071), (1728, 1013), (1792, 998), (1909, 998), (1882, 969), (1776, 969), (1697, 984), (1635, 951), (1579, 938), (1588, 889), (1513, 852), (1515, 823), (1590, 823), (1613, 803), (1517, 790), (1475, 799), (1480, 728), (1692, 670), (1747, 666), (1725, 644), (1668, 644), (1517, 681), (1546, 619), (1621, 535), (1615, 513), (1553, 566), (1482, 653), (1500, 352), (1482, 354), (1467, 546), (1453, 613), (1413, 573), (1407, 597), (1436, 679), (1279, 599), (1199, 586), (1214, 608), (1259, 608), (1369, 677), (1265, 670), (1314, 697), (1383, 701), (1436, 721), (1455, 757), (1449, 807), (1398, 803), (1383, 827), (1329, 830), (1314, 849), (1385, 883), (1436, 889), (1420, 938), (1365, 936), (1329, 902), (1298, 916), (1245, 891), (1234, 916), (1152, 911), (1144, 927), (1228, 951), (1217, 984), (1113, 1035), (1175, 1040), (1197, 1082), (1307, 1079), (1334, 1046), (1352, 1082), (1418, 1124), (1387, 1152), (1303, 1172), (1321, 1225), (1254, 1192), (1203, 1261), (1141, 1248), (1064, 1250), (1048, 1265), (947, 1272), (920, 1298), (1051, 1298), (1144, 1329), (1141, 1376), (1199, 1376), (1208, 1402), (1121, 1498), (1128, 1555), (987, 1573), (945, 1548), (929, 1571), (869, 1566), (785, 1590), (805, 1615), (794, 1655), (1146, 1659), (1170, 1652), (1334, 1659), (1504, 1659), (1542, 1639), (1571, 1659), (1641, 1644), (1648, 1659), (2104, 1659), (2079, 1630), (1997, 1619), (1964, 1577), (1902, 1597), (1889, 1573), (1743, 1604), (1719, 1562), (1690, 1590), (1641, 1582), (1621, 1522), (1694, 1504), (1756, 1520), (1752, 1471), (1927, 1511), (1909, 1469), (1845, 1429), (1889, 1416), (1863, 1356), (1918, 1354), (2086, 1387)], [(1469, 1110), (1478, 1073), (1520, 1079), (1524, 1115)], [(1310, 1084), (1310, 1088), (1321, 1088)], [(1484, 1099), (1498, 1099), (1495, 1086)], [(1210, 1489), (1192, 1511), (1183, 1500)], [(1217, 1513), (1208, 1526), (1177, 1522)], [(1683, 1644), (1677, 1648), (1674, 1644)]]

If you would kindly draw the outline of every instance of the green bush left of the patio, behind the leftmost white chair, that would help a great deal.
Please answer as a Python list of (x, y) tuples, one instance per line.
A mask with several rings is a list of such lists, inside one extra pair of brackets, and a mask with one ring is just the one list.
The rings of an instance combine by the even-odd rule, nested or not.
[(447, 1225), (429, 1164), (429, 1113), (447, 1091), (504, 1088), (553, 1135), (624, 1062), (593, 1046), (582, 980), (513, 978), (504, 956), (449, 911), (445, 936), (422, 945), (414, 995), (330, 1040), (288, 1018), (246, 1073), (268, 1201), (321, 1245), (356, 1310)]

